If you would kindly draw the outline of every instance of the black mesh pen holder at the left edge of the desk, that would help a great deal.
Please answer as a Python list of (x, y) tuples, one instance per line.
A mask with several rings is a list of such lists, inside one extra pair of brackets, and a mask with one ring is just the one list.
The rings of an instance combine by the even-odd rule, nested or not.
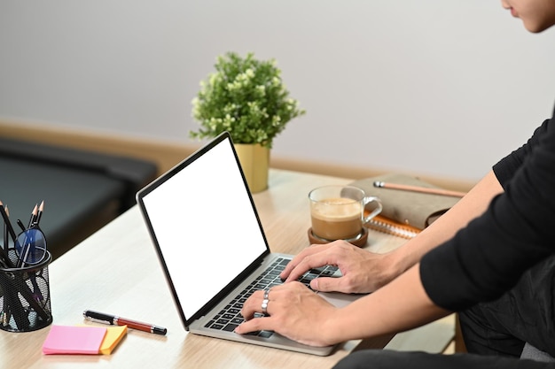
[[(12, 257), (12, 255), (11, 255)], [(48, 265), (49, 251), (35, 265), (0, 267), (0, 329), (31, 332), (52, 322)]]

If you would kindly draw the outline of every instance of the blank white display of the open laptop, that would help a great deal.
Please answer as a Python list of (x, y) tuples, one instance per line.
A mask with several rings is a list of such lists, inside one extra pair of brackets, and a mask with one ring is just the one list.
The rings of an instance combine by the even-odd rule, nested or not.
[(267, 250), (246, 191), (226, 139), (143, 199), (187, 319)]

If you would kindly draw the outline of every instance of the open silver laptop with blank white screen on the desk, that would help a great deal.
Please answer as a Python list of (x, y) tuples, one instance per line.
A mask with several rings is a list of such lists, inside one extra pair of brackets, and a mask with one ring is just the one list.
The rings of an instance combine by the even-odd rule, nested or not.
[[(233, 332), (243, 321), (242, 303), (254, 290), (281, 283), (278, 274), (293, 256), (270, 252), (229, 133), (137, 192), (137, 204), (187, 331), (320, 356), (332, 353), (334, 346), (312, 347), (274, 332)], [(308, 284), (319, 274), (340, 272), (324, 266), (301, 281)], [(356, 298), (322, 296), (338, 306)]]

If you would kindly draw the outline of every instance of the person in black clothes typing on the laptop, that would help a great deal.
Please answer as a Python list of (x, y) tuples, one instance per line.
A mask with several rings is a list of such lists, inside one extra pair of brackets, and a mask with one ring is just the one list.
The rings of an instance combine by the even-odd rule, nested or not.
[[(555, 24), (555, 0), (503, 0), (533, 33)], [(553, 120), (553, 119), (551, 119)], [(555, 356), (555, 121), (497, 163), (450, 211), (401, 249), (375, 255), (346, 242), (310, 247), (287, 266), (286, 282), (243, 308), (238, 334), (267, 329), (310, 345), (400, 332), (463, 311), (471, 352), (428, 355), (359, 351), (337, 367), (555, 367), (520, 360), (525, 342)], [(311, 267), (338, 265), (343, 277), (317, 290), (372, 292), (335, 308), (295, 282)], [(508, 292), (507, 292), (508, 291)], [(481, 304), (486, 303), (486, 304)]]

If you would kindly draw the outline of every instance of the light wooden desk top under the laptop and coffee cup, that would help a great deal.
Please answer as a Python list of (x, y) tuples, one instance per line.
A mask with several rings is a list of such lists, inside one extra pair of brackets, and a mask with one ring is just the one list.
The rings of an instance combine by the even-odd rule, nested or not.
[[(270, 189), (254, 195), (270, 249), (295, 254), (307, 247), (309, 190), (348, 182), (272, 170)], [(403, 242), (387, 234), (369, 235), (369, 249), (374, 251), (391, 250)], [(50, 327), (30, 333), (0, 331), (0, 367), (320, 369), (331, 367), (359, 343), (346, 342), (331, 356), (317, 357), (188, 334), (177, 315), (137, 206), (53, 262), (49, 272), (53, 324), (83, 324), (82, 311), (91, 309), (167, 327), (168, 334), (129, 329), (111, 356), (44, 356), (41, 347)], [(376, 342), (379, 344), (379, 340)], [(367, 347), (368, 342), (364, 343)]]

